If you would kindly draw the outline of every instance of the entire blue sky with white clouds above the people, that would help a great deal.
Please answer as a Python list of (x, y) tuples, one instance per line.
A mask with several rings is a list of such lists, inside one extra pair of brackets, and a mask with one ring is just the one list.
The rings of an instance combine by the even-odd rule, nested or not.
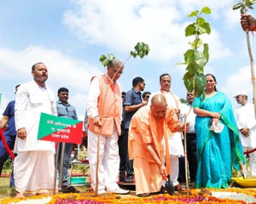
[[(236, 92), (248, 92), (252, 98), (251, 68), (245, 32), (240, 26), (239, 10), (231, 0), (44, 0), (0, 1), (0, 110), (14, 100), (14, 87), (32, 80), (31, 67), (44, 62), (47, 85), (56, 93), (69, 89), (69, 103), (84, 117), (90, 79), (104, 74), (100, 55), (113, 54), (123, 62), (138, 42), (148, 43), (145, 58), (130, 58), (119, 82), (123, 91), (132, 89), (134, 77), (142, 77), (144, 91), (157, 92), (159, 77), (172, 76), (172, 92), (185, 98), (182, 77), (183, 55), (194, 38), (184, 30), (195, 18), (194, 10), (210, 7), (203, 15), (211, 25), (211, 34), (200, 38), (209, 44), (209, 62), (204, 73), (214, 74), (218, 91), (224, 92), (233, 107)], [(249, 13), (256, 16), (256, 11)], [(251, 49), (256, 38), (250, 33)]]

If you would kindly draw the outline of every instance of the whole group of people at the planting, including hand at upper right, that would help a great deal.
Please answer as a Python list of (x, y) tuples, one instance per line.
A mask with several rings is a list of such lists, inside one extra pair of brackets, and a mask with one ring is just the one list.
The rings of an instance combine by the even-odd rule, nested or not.
[[(241, 26), (254, 31), (256, 20), (242, 15)], [(187, 92), (187, 104), (181, 104), (171, 91), (172, 77), (167, 73), (159, 77), (159, 92), (144, 92), (142, 77), (135, 77), (133, 88), (122, 92), (118, 79), (123, 68), (123, 62), (114, 58), (106, 73), (90, 82), (85, 124), (93, 190), (126, 194), (130, 190), (121, 188), (120, 183), (135, 182), (136, 195), (150, 196), (168, 192), (168, 176), (180, 193), (186, 193), (186, 176), (197, 188), (230, 187), (232, 166), (242, 170), (244, 151), (256, 147), (254, 106), (248, 103), (247, 93), (236, 94), (239, 107), (233, 110), (227, 96), (218, 91), (215, 76), (206, 74), (205, 95), (194, 98), (194, 92)], [(68, 102), (69, 89), (59, 88), (56, 101), (46, 85), (48, 72), (42, 62), (32, 65), (32, 78), (16, 87), (15, 101), (8, 104), (0, 121), (8, 147), (16, 153), (10, 186), (15, 187), (17, 197), (53, 193), (55, 160), (62, 156), (57, 166), (63, 172), (62, 192), (78, 193), (67, 181), (72, 144), (59, 143), (59, 151), (63, 148), (65, 153), (56, 158), (55, 142), (37, 139), (41, 113), (78, 119)], [(7, 158), (1, 141), (0, 173)], [(249, 161), (254, 176), (256, 153), (250, 154)], [(243, 173), (248, 176), (246, 168)]]

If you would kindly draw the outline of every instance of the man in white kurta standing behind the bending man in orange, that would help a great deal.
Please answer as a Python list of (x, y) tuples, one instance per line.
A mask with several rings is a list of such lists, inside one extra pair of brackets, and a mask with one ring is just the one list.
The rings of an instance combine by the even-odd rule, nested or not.
[[(160, 76), (160, 91), (157, 93), (153, 93), (151, 95), (151, 98), (154, 95), (157, 94), (163, 94), (166, 97), (167, 101), (167, 106), (173, 110), (175, 110), (175, 113), (178, 117), (184, 116), (184, 113), (182, 113), (181, 107), (181, 102), (178, 100), (178, 97), (175, 96), (171, 92), (171, 83), (172, 83), (172, 78), (170, 77), (169, 74), (162, 74)], [(148, 102), (151, 101), (151, 98)], [(148, 105), (151, 105), (149, 103)], [(175, 186), (175, 190), (184, 190), (183, 187), (181, 187), (181, 184), (178, 182), (178, 157), (184, 155), (184, 147), (182, 144), (182, 134), (181, 133), (172, 133), (169, 130), (169, 157), (170, 157), (170, 162), (171, 162), (171, 175), (170, 179), (172, 181), (172, 184)]]

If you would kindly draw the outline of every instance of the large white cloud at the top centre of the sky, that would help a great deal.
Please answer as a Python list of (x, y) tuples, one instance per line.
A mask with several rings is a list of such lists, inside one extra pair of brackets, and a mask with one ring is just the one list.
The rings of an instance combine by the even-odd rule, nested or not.
[[(151, 46), (149, 58), (168, 62), (181, 58), (188, 48), (188, 39), (184, 36), (184, 28), (188, 25), (184, 20), (190, 20), (188, 13), (208, 5), (212, 8), (212, 17), (218, 18), (219, 12), (227, 10), (232, 1), (218, 1), (217, 4), (194, 0), (94, 0), (75, 1), (75, 4), (77, 9), (65, 13), (64, 23), (81, 40), (121, 52), (130, 51), (137, 42), (143, 41)], [(212, 31), (206, 39), (212, 43), (213, 58), (230, 54), (217, 31)]]

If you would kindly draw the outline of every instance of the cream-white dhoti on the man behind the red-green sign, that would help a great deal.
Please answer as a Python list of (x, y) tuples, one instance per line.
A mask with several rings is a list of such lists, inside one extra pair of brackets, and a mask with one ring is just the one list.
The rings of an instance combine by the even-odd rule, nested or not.
[(15, 189), (26, 196), (53, 193), (53, 151), (20, 151), (14, 159)]

